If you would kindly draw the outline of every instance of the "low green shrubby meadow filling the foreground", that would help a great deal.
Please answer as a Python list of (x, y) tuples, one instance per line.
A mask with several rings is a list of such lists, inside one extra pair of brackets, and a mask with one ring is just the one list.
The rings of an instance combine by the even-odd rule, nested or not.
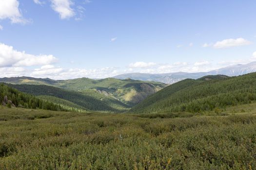
[(254, 110), (226, 112), (83, 114), (0, 106), (0, 169), (256, 169)]

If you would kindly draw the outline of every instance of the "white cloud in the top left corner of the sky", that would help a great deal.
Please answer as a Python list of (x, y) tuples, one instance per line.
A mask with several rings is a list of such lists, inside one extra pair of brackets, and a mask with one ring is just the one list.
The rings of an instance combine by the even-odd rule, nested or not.
[(27, 23), (22, 17), (18, 0), (0, 0), (0, 19), (10, 19), (12, 23)]

